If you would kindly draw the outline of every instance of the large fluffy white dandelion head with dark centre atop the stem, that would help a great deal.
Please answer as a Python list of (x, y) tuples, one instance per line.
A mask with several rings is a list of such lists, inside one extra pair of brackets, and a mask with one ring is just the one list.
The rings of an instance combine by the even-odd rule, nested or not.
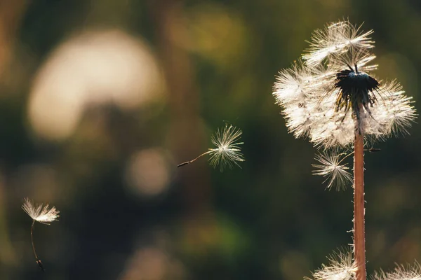
[(295, 137), (330, 148), (352, 144), (355, 132), (368, 140), (407, 133), (417, 116), (412, 99), (396, 80), (371, 74), (371, 34), (347, 20), (331, 23), (314, 31), (302, 60), (279, 72), (273, 94)]

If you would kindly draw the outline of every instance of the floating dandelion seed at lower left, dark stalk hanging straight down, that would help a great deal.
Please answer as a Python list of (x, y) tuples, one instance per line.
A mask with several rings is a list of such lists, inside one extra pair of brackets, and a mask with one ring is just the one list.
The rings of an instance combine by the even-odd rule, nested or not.
[(48, 204), (34, 204), (28, 198), (25, 198), (23, 205), (23, 211), (32, 218), (32, 227), (31, 227), (31, 241), (32, 241), (32, 250), (34, 251), (36, 264), (39, 266), (42, 272), (44, 272), (44, 265), (41, 260), (39, 260), (38, 255), (36, 255), (35, 244), (34, 244), (34, 226), (35, 222), (44, 223), (44, 225), (49, 225), (53, 221), (58, 221), (58, 214), (60, 211), (51, 207), (49, 209)]

